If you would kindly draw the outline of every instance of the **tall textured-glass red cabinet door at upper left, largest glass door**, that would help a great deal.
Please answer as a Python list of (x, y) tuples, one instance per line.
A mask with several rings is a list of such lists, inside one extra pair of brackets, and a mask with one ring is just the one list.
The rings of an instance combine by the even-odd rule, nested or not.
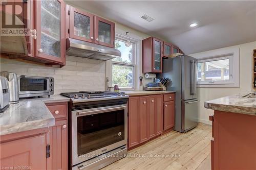
[(64, 63), (65, 6), (61, 1), (37, 1), (36, 56)]

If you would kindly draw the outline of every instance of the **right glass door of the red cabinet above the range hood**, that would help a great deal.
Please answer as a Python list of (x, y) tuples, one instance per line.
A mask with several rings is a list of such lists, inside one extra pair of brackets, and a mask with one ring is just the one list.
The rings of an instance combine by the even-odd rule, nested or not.
[(95, 16), (94, 43), (114, 48), (115, 23)]

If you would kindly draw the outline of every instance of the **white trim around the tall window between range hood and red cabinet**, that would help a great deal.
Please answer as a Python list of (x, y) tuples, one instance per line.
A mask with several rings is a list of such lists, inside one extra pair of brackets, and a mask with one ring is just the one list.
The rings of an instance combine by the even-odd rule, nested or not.
[[(120, 40), (120, 41), (124, 41), (124, 40), (129, 40), (131, 41), (132, 44), (134, 44), (134, 49), (133, 49), (133, 55), (132, 56), (132, 63), (123, 63), (123, 62), (118, 62), (118, 61), (112, 61), (112, 60), (109, 60), (109, 71), (107, 70), (108, 72), (108, 75), (109, 75), (109, 86), (112, 87), (112, 70), (113, 70), (113, 64), (116, 64), (116, 65), (124, 65), (124, 66), (132, 66), (133, 69), (134, 69), (134, 74), (133, 74), (133, 88), (120, 88), (120, 90), (136, 90), (137, 89), (137, 77), (138, 77), (138, 56), (139, 56), (139, 40), (136, 40), (136, 39), (132, 39), (130, 37), (126, 37), (126, 36), (123, 36), (123, 35), (120, 35), (120, 34), (116, 34), (115, 35), (115, 39), (117, 40)], [(107, 68), (108, 69), (108, 68)]]

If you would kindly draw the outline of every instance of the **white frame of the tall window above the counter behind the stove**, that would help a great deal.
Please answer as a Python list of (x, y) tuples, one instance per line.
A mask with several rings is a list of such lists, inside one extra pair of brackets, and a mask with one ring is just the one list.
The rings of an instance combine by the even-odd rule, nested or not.
[(125, 41), (125, 40), (129, 40), (131, 41), (131, 44), (133, 44), (133, 55), (132, 55), (132, 63), (125, 63), (125, 62), (118, 62), (118, 61), (112, 61), (110, 60), (110, 81), (109, 81), (109, 86), (112, 87), (112, 79), (113, 79), (113, 75), (112, 75), (112, 71), (113, 71), (113, 65), (121, 65), (121, 66), (129, 66), (129, 67), (133, 67), (133, 87), (129, 88), (129, 87), (119, 87), (120, 90), (136, 90), (136, 83), (137, 83), (137, 74), (138, 74), (138, 66), (137, 66), (137, 56), (138, 56), (138, 41), (126, 36), (122, 36), (119, 34), (116, 34), (115, 36), (115, 40), (119, 40), (119, 41)]

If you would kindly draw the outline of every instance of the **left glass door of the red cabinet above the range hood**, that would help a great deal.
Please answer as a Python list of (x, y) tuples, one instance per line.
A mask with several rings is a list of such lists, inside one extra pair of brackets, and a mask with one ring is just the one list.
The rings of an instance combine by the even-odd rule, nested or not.
[(90, 13), (70, 7), (70, 38), (94, 42), (93, 17)]

